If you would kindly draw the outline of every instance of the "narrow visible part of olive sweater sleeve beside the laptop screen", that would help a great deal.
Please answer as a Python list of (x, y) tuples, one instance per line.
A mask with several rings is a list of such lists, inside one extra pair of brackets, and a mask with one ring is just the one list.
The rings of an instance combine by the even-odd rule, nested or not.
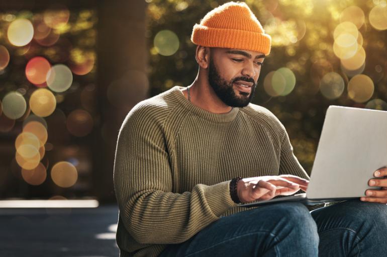
[(293, 153), (293, 146), (284, 127), (283, 130), (284, 135), (281, 143), (279, 174), (292, 174), (309, 180), (308, 173), (304, 170), (303, 166), (301, 166)]

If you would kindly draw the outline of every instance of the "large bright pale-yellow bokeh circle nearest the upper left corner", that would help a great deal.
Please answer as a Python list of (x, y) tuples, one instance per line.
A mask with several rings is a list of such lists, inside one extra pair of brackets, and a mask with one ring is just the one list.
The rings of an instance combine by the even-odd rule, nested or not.
[(12, 45), (22, 47), (31, 42), (34, 36), (34, 27), (27, 19), (17, 19), (8, 27), (7, 36)]

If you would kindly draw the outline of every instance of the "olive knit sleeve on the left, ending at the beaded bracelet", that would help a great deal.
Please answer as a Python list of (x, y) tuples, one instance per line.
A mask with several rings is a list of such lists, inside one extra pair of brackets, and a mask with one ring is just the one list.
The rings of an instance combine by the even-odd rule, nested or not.
[[(114, 186), (120, 217), (139, 243), (179, 243), (236, 206), (229, 182), (197, 184), (172, 192), (172, 171), (160, 117), (165, 111), (135, 106), (118, 136)], [(165, 115), (164, 115), (165, 116)]]

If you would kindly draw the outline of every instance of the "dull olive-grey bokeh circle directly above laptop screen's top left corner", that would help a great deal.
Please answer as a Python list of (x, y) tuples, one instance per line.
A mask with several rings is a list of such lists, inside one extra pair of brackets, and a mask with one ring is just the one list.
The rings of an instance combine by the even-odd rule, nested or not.
[(327, 99), (339, 98), (344, 92), (343, 78), (335, 72), (325, 74), (320, 82), (320, 91)]

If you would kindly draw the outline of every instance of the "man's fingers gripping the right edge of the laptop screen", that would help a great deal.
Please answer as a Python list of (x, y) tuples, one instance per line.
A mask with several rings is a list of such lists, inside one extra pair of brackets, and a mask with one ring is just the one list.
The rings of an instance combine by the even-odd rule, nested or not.
[(373, 175), (375, 177), (384, 177), (380, 179), (370, 179), (368, 185), (370, 186), (380, 186), (380, 190), (371, 190), (368, 189), (365, 191), (367, 197), (361, 197), (360, 200), (367, 202), (380, 202), (387, 203), (387, 168), (382, 168), (376, 170)]

